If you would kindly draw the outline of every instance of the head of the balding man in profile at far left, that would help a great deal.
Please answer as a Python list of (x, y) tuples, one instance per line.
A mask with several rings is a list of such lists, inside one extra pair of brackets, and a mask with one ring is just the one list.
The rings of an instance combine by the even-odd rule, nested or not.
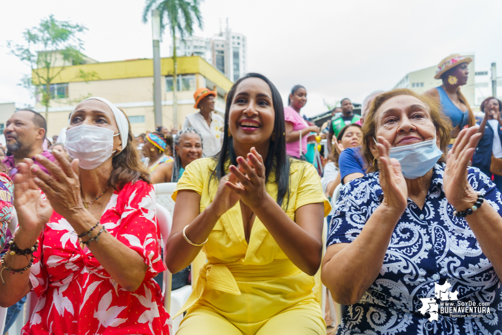
[[(39, 129), (33, 122), (31, 111), (19, 110), (7, 121), (4, 129), (9, 152), (30, 151), (33, 143), (40, 138)], [(43, 135), (42, 135), (43, 137)]]

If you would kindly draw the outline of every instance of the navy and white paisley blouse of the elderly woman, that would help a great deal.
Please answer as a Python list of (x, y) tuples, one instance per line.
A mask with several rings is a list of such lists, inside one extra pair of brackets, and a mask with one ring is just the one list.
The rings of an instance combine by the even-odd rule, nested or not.
[[(348, 306), (338, 334), (502, 334), (500, 280), (467, 221), (453, 216), (454, 208), (443, 191), (444, 167), (434, 166), (422, 209), (408, 199), (378, 277), (361, 300)], [(342, 187), (328, 246), (357, 238), (383, 199), (378, 175), (370, 173)], [(500, 192), (486, 175), (469, 168), (468, 181), (484, 193), (484, 206), (491, 205), (502, 214)], [(418, 312), (420, 298), (434, 297), (434, 283), (443, 284), (446, 279), (453, 286), (451, 291), (459, 292), (459, 300), (489, 302), (490, 313), (477, 318), (439, 314), (438, 321), (429, 321)]]

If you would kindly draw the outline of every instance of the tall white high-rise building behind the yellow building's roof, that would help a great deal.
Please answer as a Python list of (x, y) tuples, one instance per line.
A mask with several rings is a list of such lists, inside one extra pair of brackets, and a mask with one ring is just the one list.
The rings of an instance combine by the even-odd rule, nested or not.
[[(227, 78), (235, 82), (246, 73), (246, 37), (228, 28), (211, 38), (190, 36), (176, 39), (178, 56), (200, 56), (213, 64)], [(173, 45), (169, 47), (170, 55)]]

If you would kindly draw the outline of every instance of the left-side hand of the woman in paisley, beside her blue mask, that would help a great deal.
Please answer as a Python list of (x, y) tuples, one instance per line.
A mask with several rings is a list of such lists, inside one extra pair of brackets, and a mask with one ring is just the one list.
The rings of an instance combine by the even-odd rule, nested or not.
[(383, 191), (382, 204), (403, 213), (408, 204), (408, 186), (401, 172), (401, 165), (397, 159), (389, 157), (390, 143), (381, 136), (376, 139), (380, 186)]

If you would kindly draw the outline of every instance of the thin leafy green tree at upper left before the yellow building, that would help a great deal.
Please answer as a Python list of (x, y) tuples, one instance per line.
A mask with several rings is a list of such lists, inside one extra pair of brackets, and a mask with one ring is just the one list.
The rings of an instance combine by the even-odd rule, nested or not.
[[(29, 89), (33, 95), (40, 94), (40, 102), (45, 106), (45, 119), (48, 120), (48, 111), (51, 100), (57, 98), (57, 93), (50, 92), (50, 85), (63, 71), (66, 65), (85, 63), (82, 54), (82, 40), (78, 38), (87, 28), (68, 21), (58, 21), (53, 15), (43, 19), (39, 26), (27, 29), (23, 33), (23, 44), (8, 41), (11, 52), (31, 67), (32, 75), (25, 75), (21, 85)], [(55, 67), (56, 62), (61, 67)], [(33, 77), (32, 77), (33, 76)], [(95, 77), (95, 73), (80, 70), (77, 77), (84, 81)]]

